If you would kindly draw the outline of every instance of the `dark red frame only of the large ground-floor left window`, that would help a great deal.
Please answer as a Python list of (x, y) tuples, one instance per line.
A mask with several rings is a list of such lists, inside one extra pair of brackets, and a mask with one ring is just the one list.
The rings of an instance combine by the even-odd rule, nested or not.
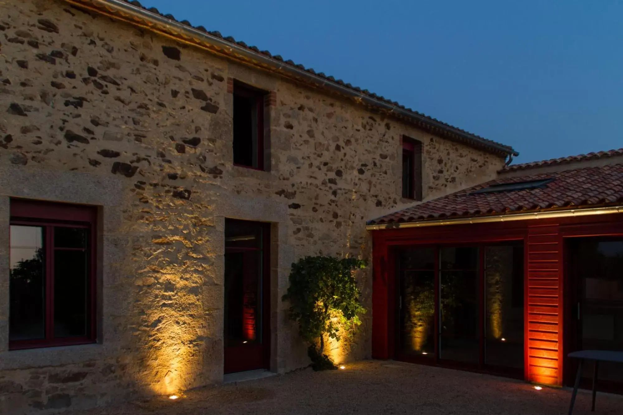
[[(11, 199), (10, 225), (40, 226), (45, 228), (45, 338), (9, 341), (9, 350), (83, 345), (97, 340), (97, 284), (96, 241), (97, 207), (64, 203), (48, 203)], [(70, 338), (54, 337), (54, 227), (82, 227), (88, 229), (87, 246), (87, 335)], [(59, 248), (75, 249), (75, 248)]]

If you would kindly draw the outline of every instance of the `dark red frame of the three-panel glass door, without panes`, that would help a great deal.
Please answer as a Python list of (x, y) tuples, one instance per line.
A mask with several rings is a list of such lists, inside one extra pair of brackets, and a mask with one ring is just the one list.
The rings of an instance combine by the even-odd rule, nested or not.
[[(396, 245), (392, 247), (392, 257), (394, 262), (394, 275), (395, 275), (395, 283), (394, 283), (394, 356), (396, 356), (396, 360), (407, 361), (410, 363), (417, 363), (421, 365), (432, 365), (432, 366), (444, 366), (447, 368), (457, 368), (461, 370), (475, 371), (478, 373), (493, 373), (500, 374), (502, 376), (524, 379), (525, 378), (525, 352), (522, 353), (523, 365), (520, 368), (508, 368), (503, 366), (495, 366), (495, 365), (487, 365), (485, 363), (485, 343), (486, 343), (486, 277), (485, 277), (485, 247), (488, 246), (509, 246), (509, 245), (521, 245), (523, 247), (523, 258), (521, 262), (524, 266), (523, 272), (523, 298), (526, 298), (526, 248), (525, 248), (525, 238), (517, 238), (517, 239), (505, 239), (503, 241), (479, 241), (479, 242), (445, 242), (445, 243), (437, 243), (437, 244), (408, 244), (408, 245)], [(435, 249), (435, 269), (434, 269), (434, 296), (435, 296), (435, 312), (434, 312), (434, 320), (435, 320), (435, 333), (434, 333), (434, 348), (435, 355), (434, 357), (430, 356), (414, 356), (414, 355), (406, 355), (401, 351), (401, 328), (400, 328), (400, 286), (401, 286), (401, 266), (400, 266), (400, 256), (399, 252), (402, 250), (409, 249), (426, 249), (433, 247)], [(458, 247), (475, 247), (478, 249), (478, 262), (477, 262), (477, 273), (478, 273), (478, 341), (479, 341), (479, 361), (477, 364), (472, 363), (464, 363), (460, 361), (447, 360), (440, 358), (440, 338), (441, 338), (441, 330), (440, 330), (440, 299), (441, 299), (441, 290), (440, 290), (440, 250), (442, 248), (458, 248)], [(527, 310), (526, 302), (523, 303), (524, 314)], [(525, 324), (525, 322), (524, 322)], [(525, 327), (523, 332), (525, 333)], [(524, 334), (524, 348), (526, 343), (526, 335)]]

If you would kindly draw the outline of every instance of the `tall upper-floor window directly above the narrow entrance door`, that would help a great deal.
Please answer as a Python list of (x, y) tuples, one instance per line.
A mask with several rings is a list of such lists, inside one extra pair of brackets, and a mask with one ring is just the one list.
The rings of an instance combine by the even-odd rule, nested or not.
[(264, 170), (265, 95), (234, 85), (234, 165)]

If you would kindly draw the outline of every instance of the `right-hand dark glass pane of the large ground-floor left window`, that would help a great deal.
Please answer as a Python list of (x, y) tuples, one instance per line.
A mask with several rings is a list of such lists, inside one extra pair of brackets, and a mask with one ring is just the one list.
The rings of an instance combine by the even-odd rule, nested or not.
[(86, 336), (88, 260), (84, 250), (54, 251), (54, 336)]

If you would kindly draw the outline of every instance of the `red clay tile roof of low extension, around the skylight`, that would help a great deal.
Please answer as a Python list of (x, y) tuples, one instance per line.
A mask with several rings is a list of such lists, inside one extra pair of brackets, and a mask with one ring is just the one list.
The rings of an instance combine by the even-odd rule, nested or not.
[[(545, 189), (472, 194), (492, 184), (520, 183), (550, 178), (554, 181), (547, 184)], [(369, 221), (368, 224), (419, 222), (427, 219), (454, 219), (541, 211), (557, 207), (581, 208), (608, 204), (623, 204), (623, 164), (495, 179), (379, 217)]]

